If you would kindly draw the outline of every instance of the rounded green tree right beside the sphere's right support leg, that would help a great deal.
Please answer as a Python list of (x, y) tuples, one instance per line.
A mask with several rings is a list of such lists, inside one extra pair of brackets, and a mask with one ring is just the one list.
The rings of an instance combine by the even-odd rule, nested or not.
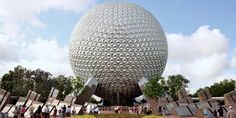
[(161, 76), (150, 79), (144, 86), (145, 96), (156, 100), (158, 100), (159, 97), (163, 97), (165, 95), (163, 81), (164, 77)]

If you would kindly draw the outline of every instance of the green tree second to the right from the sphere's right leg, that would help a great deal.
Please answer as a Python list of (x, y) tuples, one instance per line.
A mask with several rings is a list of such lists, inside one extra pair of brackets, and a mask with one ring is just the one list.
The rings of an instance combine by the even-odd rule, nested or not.
[(168, 79), (165, 83), (166, 89), (168, 90), (168, 94), (170, 94), (174, 100), (177, 100), (177, 91), (180, 90), (182, 87), (187, 87), (189, 80), (186, 79), (184, 76), (178, 74), (168, 76)]

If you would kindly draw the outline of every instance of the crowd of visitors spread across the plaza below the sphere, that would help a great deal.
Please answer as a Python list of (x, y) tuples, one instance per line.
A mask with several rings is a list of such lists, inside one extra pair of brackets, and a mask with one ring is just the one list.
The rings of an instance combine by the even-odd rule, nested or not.
[[(113, 107), (113, 111), (115, 113), (121, 113), (122, 109), (123, 108), (120, 106)], [(25, 105), (15, 106), (15, 109), (13, 111), (14, 118), (25, 118), (26, 110), (27, 109)], [(50, 108), (48, 105), (45, 105), (44, 108), (42, 108), (42, 106), (38, 106), (37, 109), (35, 109), (34, 106), (31, 105), (28, 110), (31, 118), (50, 118)], [(152, 108), (148, 105), (134, 105), (133, 107), (126, 107), (126, 110), (128, 110), (130, 114), (152, 114)], [(92, 114), (100, 114), (100, 109), (98, 106), (91, 107), (89, 111), (89, 113)], [(220, 106), (218, 109), (213, 110), (213, 115), (215, 116), (215, 118), (223, 118), (223, 111), (223, 107)], [(164, 107), (159, 107), (159, 114), (165, 115)], [(208, 115), (207, 109), (203, 109), (203, 114)], [(54, 108), (51, 114), (53, 118), (65, 118), (70, 117), (71, 115), (76, 115), (76, 109), (75, 107), (71, 108), (71, 106), (66, 105), (64, 105), (60, 109)], [(229, 106), (226, 118), (236, 118), (236, 109), (232, 106)]]

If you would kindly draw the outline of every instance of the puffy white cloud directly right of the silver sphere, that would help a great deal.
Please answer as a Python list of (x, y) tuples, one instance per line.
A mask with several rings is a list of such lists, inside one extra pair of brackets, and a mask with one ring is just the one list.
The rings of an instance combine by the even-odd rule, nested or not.
[(169, 58), (184, 61), (213, 53), (224, 53), (228, 49), (228, 39), (219, 29), (201, 26), (190, 36), (167, 33)]

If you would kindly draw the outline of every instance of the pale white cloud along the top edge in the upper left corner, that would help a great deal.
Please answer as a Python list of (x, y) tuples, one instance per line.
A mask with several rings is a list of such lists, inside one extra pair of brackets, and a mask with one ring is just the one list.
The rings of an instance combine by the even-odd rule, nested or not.
[(95, 0), (0, 0), (0, 18), (4, 22), (17, 24), (29, 23), (32, 26), (43, 27), (45, 24), (37, 18), (48, 10), (62, 10), (81, 13), (96, 2)]

